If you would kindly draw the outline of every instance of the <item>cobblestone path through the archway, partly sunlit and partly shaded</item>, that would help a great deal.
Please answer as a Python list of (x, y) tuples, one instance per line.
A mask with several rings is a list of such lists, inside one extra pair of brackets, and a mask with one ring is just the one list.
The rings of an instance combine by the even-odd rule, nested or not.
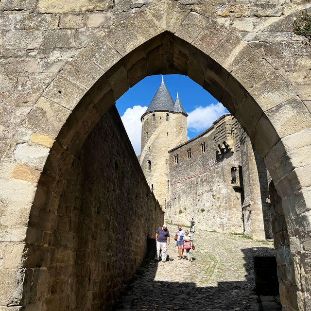
[[(197, 230), (193, 262), (178, 260), (169, 225), (170, 260), (151, 262), (131, 284), (116, 310), (258, 310), (253, 256), (274, 254), (273, 245), (239, 236)], [(185, 252), (186, 253), (186, 252)]]

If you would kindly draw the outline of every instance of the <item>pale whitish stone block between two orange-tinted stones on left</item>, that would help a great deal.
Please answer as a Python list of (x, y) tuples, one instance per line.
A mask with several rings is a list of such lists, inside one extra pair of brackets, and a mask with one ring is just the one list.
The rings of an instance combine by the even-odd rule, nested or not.
[(50, 149), (33, 143), (17, 144), (14, 150), (14, 158), (17, 162), (42, 170)]

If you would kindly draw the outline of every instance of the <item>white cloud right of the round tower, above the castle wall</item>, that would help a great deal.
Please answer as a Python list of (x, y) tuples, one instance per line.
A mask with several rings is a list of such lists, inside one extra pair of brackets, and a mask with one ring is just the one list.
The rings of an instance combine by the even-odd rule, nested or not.
[(188, 112), (188, 128), (192, 131), (203, 132), (226, 112), (225, 107), (221, 103), (210, 104), (206, 107), (199, 106)]

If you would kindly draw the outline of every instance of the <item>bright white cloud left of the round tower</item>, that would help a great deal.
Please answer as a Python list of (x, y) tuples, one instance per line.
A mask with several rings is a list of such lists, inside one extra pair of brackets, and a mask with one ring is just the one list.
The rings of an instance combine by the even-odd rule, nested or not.
[(141, 140), (141, 121), (140, 117), (146, 111), (147, 107), (134, 106), (127, 108), (121, 120), (125, 127), (126, 133), (131, 140), (136, 155), (140, 155), (140, 140)]

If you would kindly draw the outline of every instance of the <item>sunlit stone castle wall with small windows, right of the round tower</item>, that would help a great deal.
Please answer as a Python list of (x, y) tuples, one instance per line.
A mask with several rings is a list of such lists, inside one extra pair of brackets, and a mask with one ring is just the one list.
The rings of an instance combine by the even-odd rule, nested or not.
[[(230, 117), (231, 118), (231, 117)], [(227, 137), (226, 122), (223, 138)], [(215, 149), (215, 130), (170, 151), (170, 200), (165, 218), (175, 224), (189, 225), (194, 217), (196, 227), (221, 232), (243, 232), (239, 172), (237, 184), (231, 184), (231, 168), (239, 167), (240, 153), (224, 151), (223, 158)], [(201, 144), (206, 151), (202, 153)], [(191, 158), (187, 150), (191, 149)], [(178, 155), (175, 163), (174, 155)]]

